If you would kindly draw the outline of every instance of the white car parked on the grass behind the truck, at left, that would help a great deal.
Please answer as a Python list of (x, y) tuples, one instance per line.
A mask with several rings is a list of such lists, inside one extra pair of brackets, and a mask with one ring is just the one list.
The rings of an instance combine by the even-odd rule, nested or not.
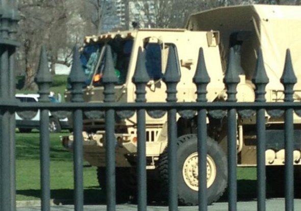
[[(16, 94), (16, 99), (21, 102), (38, 102), (39, 95), (38, 94)], [(53, 103), (59, 103), (59, 101), (53, 97), (49, 96), (49, 100)], [(30, 117), (25, 117), (23, 114), (27, 112), (27, 115), (30, 112)], [(39, 129), (40, 127), (40, 110), (37, 111), (20, 111), (16, 112), (16, 127), (19, 129), (21, 133), (29, 133), (32, 129)], [(68, 118), (58, 118), (52, 115), (49, 112), (49, 131), (58, 133), (61, 129), (69, 129)]]

